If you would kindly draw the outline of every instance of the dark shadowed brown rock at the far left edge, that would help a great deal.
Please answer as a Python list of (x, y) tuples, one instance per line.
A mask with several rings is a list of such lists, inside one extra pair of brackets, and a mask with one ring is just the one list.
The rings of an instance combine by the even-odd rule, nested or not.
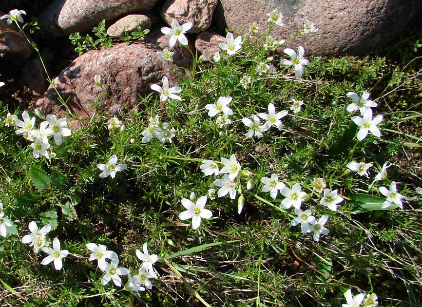
[[(5, 13), (0, 11), (0, 16)], [(20, 34), (18, 27), (12, 23), (7, 24), (7, 19), (0, 19), (0, 53), (11, 55), (14, 61), (22, 63), (31, 57), (34, 52), (31, 44)]]

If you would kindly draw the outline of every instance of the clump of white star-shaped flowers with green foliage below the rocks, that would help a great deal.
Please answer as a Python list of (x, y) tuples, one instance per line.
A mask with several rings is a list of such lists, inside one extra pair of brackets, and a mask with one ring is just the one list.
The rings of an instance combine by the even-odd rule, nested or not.
[[(128, 102), (98, 70), (86, 118), (62, 97), (48, 115), (22, 110), (35, 97), (1, 73), (2, 305), (421, 305), (422, 59), (407, 45), (394, 61), (280, 48), (329, 29), (296, 18), (280, 37), (292, 19), (279, 9), (190, 67), (172, 48), (193, 25), (173, 20), (168, 49), (153, 47), (171, 72)], [(3, 35), (44, 63), (43, 26), (22, 17), (4, 16)], [(104, 20), (97, 41), (71, 39), (112, 46), (105, 32)]]

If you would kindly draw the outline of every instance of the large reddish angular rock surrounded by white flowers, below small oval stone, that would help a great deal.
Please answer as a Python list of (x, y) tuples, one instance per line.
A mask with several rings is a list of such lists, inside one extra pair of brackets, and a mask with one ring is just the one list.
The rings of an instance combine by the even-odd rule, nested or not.
[[(154, 39), (158, 41), (163, 38), (156, 34)], [(178, 59), (174, 63), (183, 64), (187, 68), (191, 62), (190, 53), (180, 53), (181, 49), (174, 48), (175, 58)], [(161, 84), (162, 77), (168, 77), (171, 85), (180, 79), (180, 75), (175, 73), (178, 67), (160, 58), (157, 55), (159, 51), (159, 46), (152, 42), (133, 43), (129, 46), (119, 43), (112, 48), (91, 50), (63, 70), (55, 78), (55, 84), (63, 99), (68, 99), (69, 109), (78, 118), (90, 118), (94, 114), (92, 102), (97, 97), (104, 101), (105, 108), (112, 107), (117, 100), (119, 104), (132, 109), (139, 103), (138, 94), (146, 96), (152, 93), (151, 84)], [(179, 73), (182, 74), (182, 71), (179, 70)], [(97, 74), (103, 80), (103, 87), (115, 100), (104, 97), (101, 88), (94, 82)], [(63, 116), (65, 110), (57, 98), (56, 91), (50, 86), (31, 109)], [(73, 121), (70, 125), (78, 128), (80, 122)]]

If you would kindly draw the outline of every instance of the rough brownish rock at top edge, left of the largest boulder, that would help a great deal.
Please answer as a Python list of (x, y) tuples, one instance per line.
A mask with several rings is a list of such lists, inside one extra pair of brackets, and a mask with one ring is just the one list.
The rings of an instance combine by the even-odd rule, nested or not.
[(212, 14), (218, 0), (168, 0), (161, 9), (161, 16), (167, 24), (176, 19), (181, 25), (193, 23), (188, 33), (199, 33), (211, 25)]

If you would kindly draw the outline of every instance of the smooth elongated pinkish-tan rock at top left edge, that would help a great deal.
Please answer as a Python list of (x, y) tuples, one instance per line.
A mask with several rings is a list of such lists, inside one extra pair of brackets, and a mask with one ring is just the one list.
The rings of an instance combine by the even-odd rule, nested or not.
[(102, 19), (112, 20), (135, 11), (147, 13), (157, 0), (55, 0), (40, 16), (46, 33), (64, 37), (91, 31)]

